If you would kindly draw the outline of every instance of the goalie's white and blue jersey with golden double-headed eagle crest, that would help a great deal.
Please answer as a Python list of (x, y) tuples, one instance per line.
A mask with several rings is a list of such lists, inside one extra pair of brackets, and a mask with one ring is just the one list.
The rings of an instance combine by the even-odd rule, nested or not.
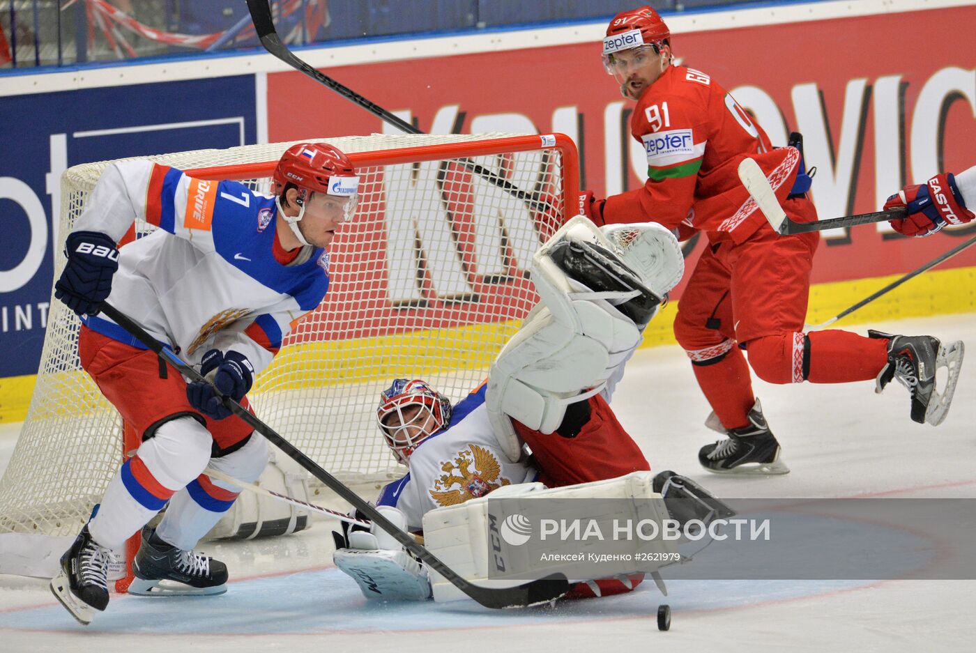
[(448, 428), (417, 445), (407, 475), (381, 492), (377, 504), (401, 510), (410, 530), (421, 530), (427, 510), (536, 479), (535, 468), (508, 462), (488, 422), (486, 389), (482, 385), (455, 405)]

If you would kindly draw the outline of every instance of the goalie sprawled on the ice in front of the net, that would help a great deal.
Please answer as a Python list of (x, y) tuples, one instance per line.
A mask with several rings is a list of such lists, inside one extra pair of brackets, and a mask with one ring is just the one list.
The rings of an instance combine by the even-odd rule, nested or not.
[[(644, 327), (682, 272), (677, 241), (660, 225), (597, 229), (582, 216), (565, 224), (534, 257), (541, 303), (479, 388), (456, 405), (421, 380), (396, 379), (382, 393), (378, 424), (408, 473), (383, 489), (378, 509), (476, 583), (491, 582), (488, 559), (498, 556), (479, 536), (495, 518), (489, 500), (572, 500), (588, 512), (578, 517), (614, 512), (656, 523), (732, 514), (690, 479), (652, 473), (609, 406)], [(336, 565), (367, 598), (464, 597), (376, 527), (334, 535)], [(508, 560), (509, 578), (533, 572), (529, 558), (520, 559)], [(571, 575), (577, 582), (568, 596), (630, 592), (660, 566), (630, 561), (598, 577)], [(557, 563), (545, 571), (567, 570)]]

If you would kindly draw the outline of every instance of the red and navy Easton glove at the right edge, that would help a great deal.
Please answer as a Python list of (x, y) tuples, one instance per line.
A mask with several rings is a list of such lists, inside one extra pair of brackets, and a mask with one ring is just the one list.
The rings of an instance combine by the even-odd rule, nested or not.
[(936, 175), (925, 184), (907, 185), (884, 203), (885, 211), (899, 207), (905, 207), (908, 216), (890, 221), (892, 228), (915, 238), (931, 235), (946, 224), (966, 224), (973, 219), (952, 174)]

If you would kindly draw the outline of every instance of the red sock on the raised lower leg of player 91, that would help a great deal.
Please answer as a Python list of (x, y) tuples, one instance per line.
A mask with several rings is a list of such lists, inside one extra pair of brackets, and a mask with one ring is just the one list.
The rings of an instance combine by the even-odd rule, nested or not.
[(810, 372), (814, 384), (870, 381), (888, 362), (888, 341), (849, 331), (814, 331), (810, 339)]

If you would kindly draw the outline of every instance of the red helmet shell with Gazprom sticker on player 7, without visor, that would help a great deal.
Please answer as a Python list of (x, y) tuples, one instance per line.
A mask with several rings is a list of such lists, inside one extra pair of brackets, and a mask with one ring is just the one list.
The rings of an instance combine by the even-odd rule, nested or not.
[(271, 179), (275, 195), (285, 184), (295, 184), (312, 192), (351, 197), (359, 185), (349, 157), (329, 143), (292, 145), (281, 155)]

